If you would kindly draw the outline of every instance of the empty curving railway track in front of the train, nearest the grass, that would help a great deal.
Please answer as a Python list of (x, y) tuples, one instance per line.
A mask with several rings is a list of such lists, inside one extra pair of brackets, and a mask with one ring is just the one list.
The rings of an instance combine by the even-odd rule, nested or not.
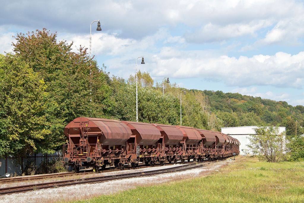
[[(214, 161), (212, 161), (212, 162), (214, 162)], [(99, 182), (123, 179), (123, 178), (142, 177), (142, 176), (157, 175), (157, 174), (162, 174), (162, 173), (185, 171), (185, 170), (189, 170), (189, 169), (203, 167), (203, 166), (206, 166), (206, 164), (210, 164), (212, 162), (190, 163), (190, 164), (174, 166), (174, 167), (158, 169), (158, 170), (152, 170), (152, 171), (141, 171), (141, 172), (126, 173), (126, 174), (118, 174), (118, 175), (107, 175), (107, 176), (98, 176), (98, 177), (92, 177), (92, 178), (82, 178), (82, 179), (45, 182), (45, 183), (30, 184), (30, 185), (12, 186), (12, 187), (0, 188), (0, 195), (25, 192), (25, 191), (31, 191), (31, 190), (38, 190), (38, 189), (44, 189), (44, 188), (53, 188), (53, 187), (61, 187), (61, 186), (68, 186), (68, 185), (75, 185), (75, 184), (85, 184), (85, 183), (99, 183)]]

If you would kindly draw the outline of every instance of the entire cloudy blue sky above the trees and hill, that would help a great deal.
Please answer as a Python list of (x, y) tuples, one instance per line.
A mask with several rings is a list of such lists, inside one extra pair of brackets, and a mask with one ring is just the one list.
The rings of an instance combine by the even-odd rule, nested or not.
[(180, 87), (304, 105), (304, 2), (0, 0), (0, 53), (12, 36), (47, 28), (89, 48), (111, 75), (150, 73)]

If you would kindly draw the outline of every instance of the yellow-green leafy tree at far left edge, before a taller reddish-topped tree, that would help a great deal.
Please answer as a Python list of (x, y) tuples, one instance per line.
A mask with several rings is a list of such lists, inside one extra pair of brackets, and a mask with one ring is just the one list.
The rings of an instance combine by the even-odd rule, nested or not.
[(43, 79), (11, 55), (0, 60), (0, 157), (48, 152), (43, 148), (51, 135), (43, 113), (47, 99)]

